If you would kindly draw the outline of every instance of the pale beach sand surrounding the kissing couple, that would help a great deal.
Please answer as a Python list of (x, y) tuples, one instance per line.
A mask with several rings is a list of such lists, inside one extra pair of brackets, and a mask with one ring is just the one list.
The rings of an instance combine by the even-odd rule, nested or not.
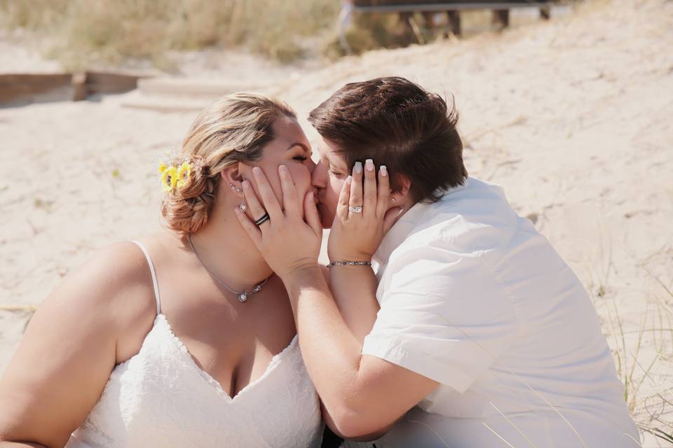
[[(621, 371), (633, 369), (634, 416), (654, 414), (671, 432), (673, 405), (655, 403), (673, 397), (672, 48), (672, 1), (599, 1), (501, 34), (334, 64), (208, 51), (180, 69), (264, 83), (303, 119), (344, 83), (375, 76), (454, 94), (468, 171), (501, 184), (569, 262)], [(0, 71), (54, 69), (33, 51), (0, 41)], [(124, 97), (0, 109), (0, 305), (39, 306), (97, 248), (160, 225), (154, 160), (179, 146), (195, 113), (127, 109)], [(0, 311), (0, 372), (29, 315)]]

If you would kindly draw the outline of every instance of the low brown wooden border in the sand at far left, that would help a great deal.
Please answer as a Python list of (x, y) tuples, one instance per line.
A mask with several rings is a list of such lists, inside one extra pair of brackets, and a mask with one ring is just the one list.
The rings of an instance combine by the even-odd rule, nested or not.
[(134, 90), (143, 76), (86, 71), (82, 73), (0, 74), (0, 105), (39, 101), (81, 101), (90, 94)]

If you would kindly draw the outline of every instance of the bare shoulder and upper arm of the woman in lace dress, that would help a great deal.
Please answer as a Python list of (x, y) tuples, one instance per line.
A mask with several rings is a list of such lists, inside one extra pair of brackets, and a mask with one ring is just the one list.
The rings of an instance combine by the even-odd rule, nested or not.
[(0, 440), (63, 446), (119, 358), (137, 353), (155, 315), (140, 248), (124, 242), (97, 251), (30, 321), (0, 380)]

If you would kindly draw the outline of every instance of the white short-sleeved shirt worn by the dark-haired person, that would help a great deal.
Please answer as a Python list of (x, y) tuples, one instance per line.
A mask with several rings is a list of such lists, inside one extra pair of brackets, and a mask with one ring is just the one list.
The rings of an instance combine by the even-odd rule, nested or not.
[(362, 353), (440, 383), (407, 416), (417, 429), (449, 447), (582, 447), (560, 413), (587, 447), (635, 446), (587, 293), (500, 187), (470, 177), (416, 204), (374, 267), (381, 309)]

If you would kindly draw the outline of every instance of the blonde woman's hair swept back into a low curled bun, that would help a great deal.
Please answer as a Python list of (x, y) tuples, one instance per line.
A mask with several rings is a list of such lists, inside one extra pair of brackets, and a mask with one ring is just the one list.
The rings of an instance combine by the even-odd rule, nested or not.
[(215, 204), (219, 173), (236, 162), (261, 159), (276, 137), (271, 125), (282, 117), (297, 118), (284, 102), (256, 93), (228, 94), (201, 111), (174, 161), (179, 165), (188, 158), (191, 176), (161, 202), (168, 227), (182, 236), (202, 228)]

